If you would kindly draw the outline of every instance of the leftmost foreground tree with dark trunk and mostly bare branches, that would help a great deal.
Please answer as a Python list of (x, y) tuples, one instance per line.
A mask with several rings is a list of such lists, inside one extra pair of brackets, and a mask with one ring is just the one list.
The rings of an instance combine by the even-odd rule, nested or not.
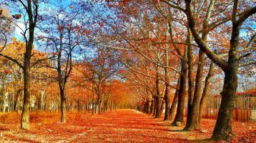
[[(24, 1), (9, 1), (8, 4), (13, 4), (21, 9), (24, 12), (24, 20), (27, 21), (26, 29), (22, 32), (24, 36), (24, 42), (26, 45), (26, 50), (24, 53), (24, 63), (20, 63), (18, 60), (9, 57), (8, 55), (4, 55), (0, 53), (1, 56), (7, 58), (23, 69), (24, 73), (24, 101), (23, 101), (23, 109), (21, 114), (21, 129), (29, 129), (29, 97), (30, 97), (30, 69), (36, 63), (31, 63), (31, 56), (33, 55), (32, 50), (34, 48), (34, 30), (36, 28), (36, 22), (38, 18), (38, 9), (39, 2), (27, 0), (26, 3)], [(21, 14), (13, 15), (14, 18), (21, 18)], [(16, 23), (15, 23), (16, 24)], [(22, 31), (22, 29), (21, 29)]]

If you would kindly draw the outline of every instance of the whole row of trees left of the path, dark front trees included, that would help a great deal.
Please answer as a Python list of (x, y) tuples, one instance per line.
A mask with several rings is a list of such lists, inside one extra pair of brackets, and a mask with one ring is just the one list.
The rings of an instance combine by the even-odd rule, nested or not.
[(133, 102), (124, 100), (132, 97), (129, 83), (115, 78), (122, 65), (91, 42), (86, 26), (97, 30), (102, 23), (81, 20), (92, 3), (61, 2), (1, 2), (1, 111), (21, 108), (21, 129), (30, 128), (31, 110), (60, 110), (66, 122), (74, 107), (94, 114)]

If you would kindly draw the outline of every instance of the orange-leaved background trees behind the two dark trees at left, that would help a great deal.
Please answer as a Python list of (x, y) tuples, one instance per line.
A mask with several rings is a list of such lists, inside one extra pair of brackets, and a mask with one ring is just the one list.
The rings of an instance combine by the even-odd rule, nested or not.
[[(24, 43), (16, 38), (2, 52), (16, 60), (24, 53)], [(109, 55), (97, 51), (99, 58), (88, 59), (74, 63), (74, 69), (67, 83), (67, 90), (64, 95), (67, 97), (66, 110), (92, 111), (92, 113), (103, 112), (103, 110), (116, 109), (117, 106), (128, 106), (128, 102), (123, 104), (123, 95), (127, 94), (126, 84), (120, 80), (115, 80), (112, 75), (118, 68), (112, 68), (114, 62)], [(46, 53), (34, 51), (34, 60), (44, 58)], [(101, 59), (104, 58), (104, 59)], [(99, 61), (102, 60), (102, 61)], [(23, 82), (22, 70), (15, 63), (1, 58), (1, 112), (16, 112), (23, 107)], [(109, 64), (109, 62), (112, 62)], [(59, 100), (58, 75), (50, 65), (54, 60), (48, 60), (31, 70), (31, 90), (29, 110), (58, 111), (61, 102)], [(104, 65), (111, 65), (105, 66)], [(106, 97), (104, 97), (106, 96)], [(123, 101), (122, 101), (123, 100)], [(121, 103), (122, 101), (122, 103)]]

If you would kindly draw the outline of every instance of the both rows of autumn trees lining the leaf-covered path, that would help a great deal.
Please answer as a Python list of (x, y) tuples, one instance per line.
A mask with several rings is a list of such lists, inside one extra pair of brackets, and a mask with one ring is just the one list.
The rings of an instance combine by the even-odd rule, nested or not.
[[(40, 80), (39, 89), (44, 89), (44, 82), (58, 83), (61, 122), (65, 122), (65, 110), (72, 107), (69, 98), (87, 95), (76, 98), (77, 109), (79, 102), (86, 103), (93, 113), (117, 105), (137, 105), (154, 117), (160, 117), (165, 110), (164, 120), (174, 120), (173, 125), (184, 123), (187, 105), (184, 130), (200, 129), (205, 97), (211, 92), (211, 79), (217, 75), (220, 79), (214, 80), (223, 84), (222, 102), (212, 138), (232, 137), (237, 77), (240, 73), (255, 72), (253, 1), (132, 0), (67, 4), (18, 0), (3, 4), (14, 15), (0, 13), (3, 21), (0, 55), (3, 61), (7, 59), (4, 66), (16, 67), (22, 74), (4, 69), (5, 80), (1, 85), (6, 87), (4, 83), (10, 79), (24, 82), (22, 86), (14, 85), (24, 93), (21, 128), (29, 129), (31, 85), (35, 77), (43, 77), (41, 73), (47, 73), (47, 78)], [(19, 38), (22, 38), (11, 42), (13, 47), (23, 46), (16, 57), (8, 53), (13, 31), (21, 32)], [(44, 72), (34, 76), (39, 69)], [(42, 100), (37, 104), (44, 105)]]

